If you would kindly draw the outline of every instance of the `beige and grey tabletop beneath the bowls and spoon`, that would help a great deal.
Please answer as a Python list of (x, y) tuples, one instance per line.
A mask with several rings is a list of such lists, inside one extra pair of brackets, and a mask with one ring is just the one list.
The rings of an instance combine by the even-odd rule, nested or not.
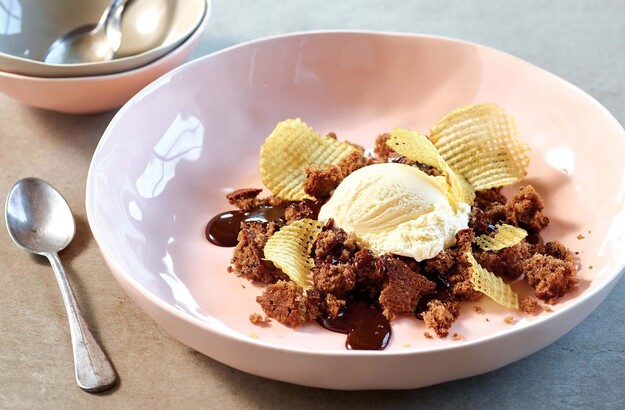
[[(193, 57), (265, 35), (309, 29), (440, 34), (527, 59), (577, 84), (621, 123), (625, 120), (623, 0), (277, 4), (215, 1), (210, 28)], [(45, 260), (15, 247), (3, 226), (0, 408), (619, 408), (625, 403), (623, 282), (590, 318), (548, 348), (486, 375), (419, 390), (304, 388), (247, 375), (194, 352), (133, 304), (90, 234), (86, 173), (114, 114), (69, 116), (0, 95), (0, 196), (17, 179), (38, 176), (67, 198), (77, 235), (61, 258), (86, 319), (121, 379), (102, 394), (76, 386), (52, 270)]]

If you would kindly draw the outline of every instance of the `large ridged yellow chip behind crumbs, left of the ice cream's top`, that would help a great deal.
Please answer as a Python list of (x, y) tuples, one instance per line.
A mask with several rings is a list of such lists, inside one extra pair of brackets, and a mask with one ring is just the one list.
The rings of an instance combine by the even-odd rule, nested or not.
[(304, 192), (304, 169), (311, 164), (325, 168), (338, 164), (356, 148), (322, 137), (299, 118), (279, 122), (260, 148), (263, 184), (287, 201), (314, 199)]

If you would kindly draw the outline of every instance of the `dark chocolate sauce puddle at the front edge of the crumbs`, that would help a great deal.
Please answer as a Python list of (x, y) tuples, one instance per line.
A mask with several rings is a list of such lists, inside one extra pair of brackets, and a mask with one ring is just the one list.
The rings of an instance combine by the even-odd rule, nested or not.
[(319, 324), (347, 335), (348, 350), (384, 350), (391, 339), (391, 324), (377, 303), (363, 296), (350, 297), (335, 318), (322, 317)]

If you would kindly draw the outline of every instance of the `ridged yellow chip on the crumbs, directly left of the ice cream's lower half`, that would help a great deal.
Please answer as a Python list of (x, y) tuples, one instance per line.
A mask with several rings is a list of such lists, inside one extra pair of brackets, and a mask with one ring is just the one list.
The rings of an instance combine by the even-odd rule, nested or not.
[(312, 289), (309, 274), (315, 262), (310, 252), (322, 228), (323, 222), (313, 219), (300, 219), (282, 227), (267, 240), (265, 259), (302, 288)]

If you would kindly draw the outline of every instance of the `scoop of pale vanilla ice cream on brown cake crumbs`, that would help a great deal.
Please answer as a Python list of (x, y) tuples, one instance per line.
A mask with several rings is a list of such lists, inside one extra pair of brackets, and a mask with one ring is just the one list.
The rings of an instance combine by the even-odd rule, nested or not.
[(361, 247), (421, 261), (455, 244), (467, 227), (468, 204), (454, 210), (443, 177), (404, 164), (375, 164), (352, 172), (321, 208), (319, 220), (334, 219), (353, 232)]

